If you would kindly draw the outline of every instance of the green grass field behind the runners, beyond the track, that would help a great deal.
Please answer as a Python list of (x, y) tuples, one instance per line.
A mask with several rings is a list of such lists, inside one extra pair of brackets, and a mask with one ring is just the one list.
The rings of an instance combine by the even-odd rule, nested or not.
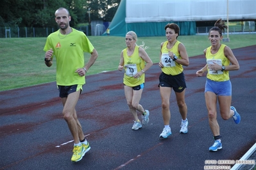
[[(230, 42), (225, 44), (231, 49), (256, 45), (255, 34), (229, 35), (229, 38)], [(89, 39), (99, 56), (87, 75), (117, 70), (121, 50), (126, 47), (124, 37), (89, 36)], [(165, 40), (164, 36), (139, 37), (137, 44), (144, 42), (149, 47), (146, 50), (149, 57), (153, 63), (158, 63), (160, 43)], [(203, 54), (203, 50), (210, 46), (207, 35), (179, 36), (178, 40), (185, 45), (189, 57)], [(46, 38), (0, 39), (0, 91), (56, 81), (55, 58), (50, 68), (44, 64), (45, 43)], [(90, 55), (85, 53), (86, 62), (89, 58)]]

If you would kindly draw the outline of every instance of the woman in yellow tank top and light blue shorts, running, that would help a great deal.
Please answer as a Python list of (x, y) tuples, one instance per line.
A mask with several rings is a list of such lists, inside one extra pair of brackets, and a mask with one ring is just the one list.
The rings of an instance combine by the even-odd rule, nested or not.
[(224, 31), (225, 28), (227, 28), (225, 22), (219, 19), (214, 24), (214, 27), (210, 29), (209, 40), (212, 45), (203, 51), (207, 59), (207, 64), (196, 72), (197, 76), (202, 76), (204, 72), (207, 72), (205, 101), (210, 129), (214, 135), (214, 144), (210, 146), (209, 151), (218, 151), (222, 148), (219, 124), (217, 121), (217, 100), (223, 120), (233, 118), (236, 124), (240, 123), (241, 120), (235, 107), (230, 106), (232, 85), (228, 71), (239, 70), (239, 63), (230, 47), (221, 44), (223, 38), (222, 31)]

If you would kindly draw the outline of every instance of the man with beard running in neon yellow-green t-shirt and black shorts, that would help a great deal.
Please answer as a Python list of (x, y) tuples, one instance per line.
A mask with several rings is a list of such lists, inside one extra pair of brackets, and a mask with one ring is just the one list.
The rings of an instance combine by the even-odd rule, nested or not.
[[(90, 145), (83, 134), (75, 107), (85, 84), (85, 73), (98, 58), (98, 52), (83, 32), (69, 26), (71, 16), (67, 9), (56, 10), (55, 21), (60, 29), (47, 37), (44, 61), (49, 67), (53, 65), (53, 57), (56, 58), (56, 84), (64, 105), (62, 114), (74, 138), (71, 161), (77, 162), (90, 150)], [(91, 54), (86, 65), (83, 52)]]

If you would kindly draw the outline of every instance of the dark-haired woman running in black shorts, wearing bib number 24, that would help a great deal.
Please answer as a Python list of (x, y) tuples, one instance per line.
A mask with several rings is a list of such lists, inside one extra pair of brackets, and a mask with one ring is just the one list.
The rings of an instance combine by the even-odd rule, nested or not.
[(176, 101), (182, 116), (180, 133), (187, 133), (187, 105), (185, 104), (185, 76), (183, 74), (183, 66), (189, 65), (189, 57), (185, 46), (177, 40), (180, 33), (180, 27), (177, 24), (167, 24), (166, 42), (161, 43), (160, 47), (160, 62), (158, 65), (162, 68), (162, 73), (159, 76), (159, 88), (162, 99), (162, 116), (164, 120), (164, 130), (160, 137), (167, 138), (171, 135), (171, 111), (169, 100), (172, 89), (175, 91)]

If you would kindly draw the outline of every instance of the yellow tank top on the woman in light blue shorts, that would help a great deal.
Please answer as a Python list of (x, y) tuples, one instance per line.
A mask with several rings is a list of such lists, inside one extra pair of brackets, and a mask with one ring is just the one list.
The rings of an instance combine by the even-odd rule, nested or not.
[[(226, 45), (221, 44), (221, 47), (219, 47), (219, 50), (216, 54), (212, 54), (210, 52), (211, 46), (207, 48), (206, 50), (206, 61), (207, 64), (210, 64), (212, 62), (218, 63), (218, 65), (221, 66), (227, 66), (230, 65), (230, 61), (228, 58), (226, 58), (225, 54), (224, 54), (224, 49), (225, 49)], [(221, 72), (221, 70), (218, 71), (214, 71), (214, 70), (210, 70), (207, 68), (207, 78), (212, 80), (212, 81), (228, 81), (229, 80), (229, 72), (228, 71), (223, 71)]]

